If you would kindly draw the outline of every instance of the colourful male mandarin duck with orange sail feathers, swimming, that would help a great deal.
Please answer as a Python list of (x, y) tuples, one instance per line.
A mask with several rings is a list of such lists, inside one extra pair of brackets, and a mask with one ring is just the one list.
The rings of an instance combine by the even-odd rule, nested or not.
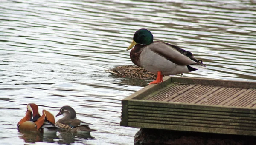
[(38, 106), (34, 103), (27, 105), (25, 117), (23, 117), (17, 124), (19, 131), (40, 131), (44, 133), (56, 133), (58, 127), (55, 125), (54, 116), (43, 110), (43, 115), (38, 113)]

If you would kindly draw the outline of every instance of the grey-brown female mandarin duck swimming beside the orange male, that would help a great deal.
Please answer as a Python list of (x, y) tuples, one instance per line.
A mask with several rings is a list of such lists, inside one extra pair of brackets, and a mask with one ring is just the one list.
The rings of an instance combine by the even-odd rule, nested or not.
[(91, 131), (97, 131), (90, 129), (89, 125), (92, 124), (76, 119), (76, 111), (70, 106), (61, 107), (56, 117), (59, 115), (63, 115), (63, 117), (56, 122), (56, 125), (71, 133), (90, 133)]

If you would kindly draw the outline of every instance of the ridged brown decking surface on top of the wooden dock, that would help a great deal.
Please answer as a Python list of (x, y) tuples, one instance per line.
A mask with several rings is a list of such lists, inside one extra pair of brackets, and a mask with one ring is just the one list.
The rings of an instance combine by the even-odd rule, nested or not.
[(253, 107), (253, 105), (256, 105), (254, 102), (256, 100), (256, 89), (172, 84), (142, 99), (162, 102)]

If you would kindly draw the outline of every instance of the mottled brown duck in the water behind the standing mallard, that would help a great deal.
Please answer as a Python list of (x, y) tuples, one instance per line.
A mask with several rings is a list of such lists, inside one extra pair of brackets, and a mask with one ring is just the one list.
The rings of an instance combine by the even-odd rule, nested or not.
[(157, 75), (148, 72), (145, 68), (141, 68), (135, 65), (123, 65), (115, 68), (105, 70), (117, 77), (128, 77), (140, 80), (155, 80)]

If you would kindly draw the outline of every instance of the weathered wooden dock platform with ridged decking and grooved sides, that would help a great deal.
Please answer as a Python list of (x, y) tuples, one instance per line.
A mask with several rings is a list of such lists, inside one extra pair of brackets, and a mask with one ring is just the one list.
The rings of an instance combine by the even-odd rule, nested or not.
[(120, 125), (256, 136), (256, 82), (164, 77), (122, 100)]

